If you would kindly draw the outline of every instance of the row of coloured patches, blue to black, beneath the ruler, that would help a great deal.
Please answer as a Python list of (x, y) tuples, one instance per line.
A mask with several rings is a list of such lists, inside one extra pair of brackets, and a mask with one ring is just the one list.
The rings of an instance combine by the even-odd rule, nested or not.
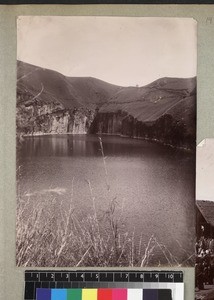
[(172, 300), (170, 289), (43, 289), (36, 300)]

